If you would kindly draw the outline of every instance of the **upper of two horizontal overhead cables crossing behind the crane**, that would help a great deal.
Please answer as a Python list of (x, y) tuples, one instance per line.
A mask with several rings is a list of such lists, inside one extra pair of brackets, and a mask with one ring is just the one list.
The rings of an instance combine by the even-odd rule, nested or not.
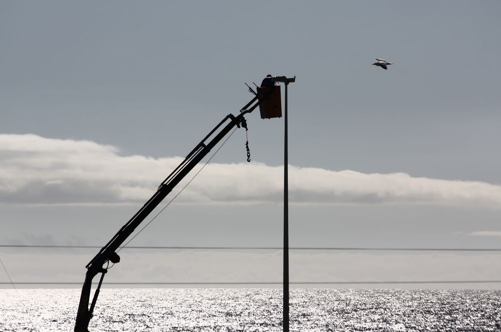
[[(31, 244), (0, 244), (3, 248), (73, 248), (101, 249), (95, 245), (31, 245)], [(121, 249), (172, 249), (172, 250), (282, 250), (273, 246), (127, 246)], [(501, 248), (389, 248), (389, 247), (289, 247), (289, 250), (339, 250), (339, 251), (501, 251)]]

